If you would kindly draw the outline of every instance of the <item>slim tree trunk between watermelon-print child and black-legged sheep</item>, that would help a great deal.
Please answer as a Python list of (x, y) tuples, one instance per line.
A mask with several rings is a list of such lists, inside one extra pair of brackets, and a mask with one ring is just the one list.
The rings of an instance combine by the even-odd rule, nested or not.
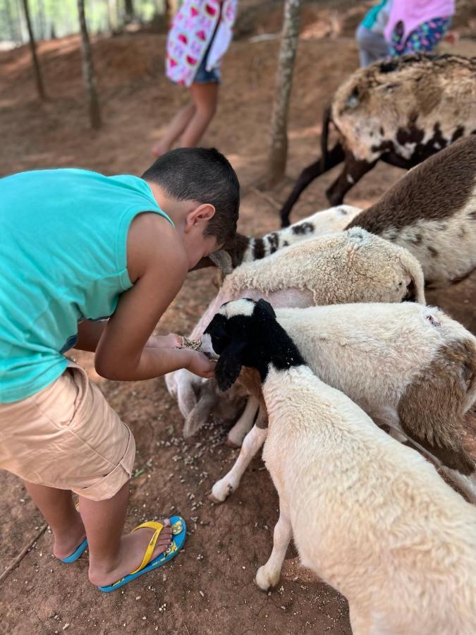
[(288, 111), (293, 85), (293, 70), (298, 48), (302, 0), (286, 0), (283, 32), (279, 51), (273, 113), (271, 115), (271, 147), (268, 160), (268, 187), (276, 185), (284, 176), (288, 157)]

